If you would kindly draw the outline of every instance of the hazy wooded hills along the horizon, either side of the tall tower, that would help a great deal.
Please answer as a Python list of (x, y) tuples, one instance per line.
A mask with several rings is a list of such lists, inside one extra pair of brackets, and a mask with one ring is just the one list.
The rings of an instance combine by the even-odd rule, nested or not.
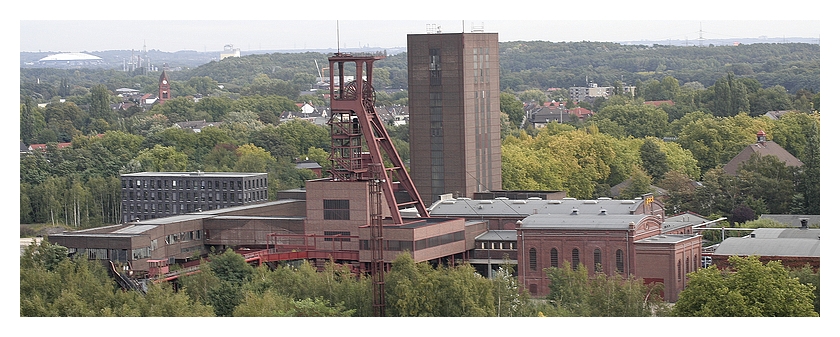
[[(741, 45), (680, 46), (662, 44), (620, 44), (610, 42), (501, 42), (500, 65), (503, 90), (568, 88), (596, 83), (601, 86), (623, 82), (634, 85), (665, 76), (680, 84), (697, 82), (708, 87), (726, 75), (754, 78), (764, 87), (783, 86), (789, 93), (800, 89), (820, 91), (820, 45), (814, 43), (754, 43)], [(358, 52), (347, 50), (348, 52)], [(386, 51), (389, 57), (377, 62), (384, 81), (377, 89), (407, 88), (406, 53)], [(395, 53), (396, 52), (396, 53)], [(128, 53), (128, 54), (126, 54)], [(70, 85), (90, 87), (107, 83), (109, 89), (121, 86), (149, 85), (148, 80), (132, 79), (138, 75), (154, 78), (162, 64), (173, 70), (175, 81), (207, 76), (219, 83), (243, 86), (259, 74), (284, 81), (318, 80), (319, 67), (327, 65), (329, 53), (273, 52), (243, 53), (240, 58), (218, 61), (218, 53), (150, 51), (149, 58), (160, 68), (146, 74), (143, 69), (124, 72), (124, 61), (137, 51), (91, 53), (106, 60), (108, 69), (21, 68), (24, 83), (58, 83), (66, 78)], [(128, 56), (126, 56), (128, 55)], [(44, 53), (21, 53), (21, 62), (46, 56)], [(317, 62), (317, 66), (316, 66)], [(119, 73), (122, 72), (122, 75)], [(72, 76), (71, 76), (72, 75)], [(147, 83), (148, 82), (148, 83)], [(384, 82), (384, 83), (383, 83)], [(113, 87), (112, 87), (113, 86)], [(302, 88), (305, 89), (305, 88)]]

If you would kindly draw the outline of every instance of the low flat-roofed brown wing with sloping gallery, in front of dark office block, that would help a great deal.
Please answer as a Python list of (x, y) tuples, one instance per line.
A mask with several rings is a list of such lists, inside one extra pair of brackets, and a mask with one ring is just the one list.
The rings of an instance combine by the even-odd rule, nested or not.
[(71, 256), (118, 262), (143, 274), (150, 260), (185, 263), (211, 248), (265, 247), (271, 233), (303, 234), (304, 209), (302, 200), (279, 200), (51, 234), (49, 241)]

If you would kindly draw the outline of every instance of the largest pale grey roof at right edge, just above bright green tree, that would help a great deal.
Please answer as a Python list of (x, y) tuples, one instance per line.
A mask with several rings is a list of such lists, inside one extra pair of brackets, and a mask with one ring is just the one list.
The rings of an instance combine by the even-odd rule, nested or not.
[(819, 257), (820, 240), (728, 238), (720, 243), (713, 255)]

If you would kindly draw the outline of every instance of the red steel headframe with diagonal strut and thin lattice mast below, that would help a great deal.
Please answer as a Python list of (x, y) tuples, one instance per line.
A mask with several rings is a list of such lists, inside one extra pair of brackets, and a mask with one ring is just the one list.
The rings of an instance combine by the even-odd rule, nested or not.
[[(394, 224), (403, 224), (402, 208), (413, 206), (421, 217), (429, 217), (385, 125), (374, 110), (373, 62), (384, 57), (336, 53), (329, 58), (330, 160), (333, 163), (330, 173), (335, 181), (368, 182), (374, 316), (385, 316), (382, 195)], [(394, 192), (398, 190), (406, 192), (407, 200), (397, 201)]]

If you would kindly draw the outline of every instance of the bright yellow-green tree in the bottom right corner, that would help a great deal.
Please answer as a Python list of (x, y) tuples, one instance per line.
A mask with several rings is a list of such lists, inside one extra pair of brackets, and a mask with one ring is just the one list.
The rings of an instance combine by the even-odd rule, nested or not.
[(813, 317), (813, 286), (790, 276), (779, 261), (731, 256), (731, 270), (703, 268), (688, 274), (674, 316)]

